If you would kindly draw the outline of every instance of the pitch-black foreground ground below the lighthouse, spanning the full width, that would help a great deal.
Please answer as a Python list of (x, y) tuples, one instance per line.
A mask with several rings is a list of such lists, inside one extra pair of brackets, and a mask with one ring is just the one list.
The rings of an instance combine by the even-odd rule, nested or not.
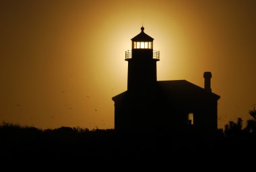
[(0, 162), (1, 167), (11, 163), (14, 167), (15, 164), (25, 167), (36, 164), (37, 167), (81, 165), (85, 168), (120, 165), (122, 169), (134, 164), (172, 167), (179, 163), (181, 169), (201, 165), (211, 168), (255, 165), (255, 133), (236, 129), (218, 130), (216, 138), (209, 138), (164, 131), (121, 133), (69, 127), (38, 130), (2, 124)]

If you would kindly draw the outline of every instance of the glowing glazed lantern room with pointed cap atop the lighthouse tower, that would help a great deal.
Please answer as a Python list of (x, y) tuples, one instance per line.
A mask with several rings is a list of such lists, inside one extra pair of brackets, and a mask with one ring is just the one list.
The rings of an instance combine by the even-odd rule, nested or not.
[(141, 32), (131, 39), (132, 49), (152, 49), (153, 50), (153, 40), (154, 38), (148, 36), (144, 33), (143, 26), (141, 27)]

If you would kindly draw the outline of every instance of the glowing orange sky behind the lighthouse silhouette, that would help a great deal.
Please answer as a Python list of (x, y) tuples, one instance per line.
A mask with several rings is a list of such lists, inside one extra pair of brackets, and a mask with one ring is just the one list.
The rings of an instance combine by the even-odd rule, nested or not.
[(203, 87), (218, 122), (256, 103), (256, 1), (0, 1), (0, 122), (113, 128), (127, 89), (125, 50), (141, 24), (160, 50), (158, 80)]

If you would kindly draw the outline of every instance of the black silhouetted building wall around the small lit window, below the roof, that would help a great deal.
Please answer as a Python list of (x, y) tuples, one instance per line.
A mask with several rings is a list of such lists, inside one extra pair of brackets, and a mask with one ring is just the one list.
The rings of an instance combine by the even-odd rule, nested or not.
[[(158, 99), (159, 100), (159, 99)], [(193, 126), (188, 114), (193, 113)], [(126, 131), (166, 130), (207, 133), (217, 129), (217, 102), (179, 103), (157, 99), (125, 99), (115, 103), (115, 129)], [(191, 129), (193, 128), (193, 129)]]

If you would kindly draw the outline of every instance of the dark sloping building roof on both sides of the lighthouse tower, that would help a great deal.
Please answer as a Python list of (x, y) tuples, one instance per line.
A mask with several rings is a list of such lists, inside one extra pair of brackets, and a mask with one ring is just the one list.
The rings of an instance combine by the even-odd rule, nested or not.
[[(158, 81), (156, 90), (160, 95), (164, 95), (167, 99), (173, 101), (205, 101), (220, 99), (220, 95), (206, 91), (205, 89), (190, 83), (186, 80), (173, 80), (173, 81)], [(127, 95), (128, 91), (120, 93), (113, 97), (113, 101), (122, 101)]]

